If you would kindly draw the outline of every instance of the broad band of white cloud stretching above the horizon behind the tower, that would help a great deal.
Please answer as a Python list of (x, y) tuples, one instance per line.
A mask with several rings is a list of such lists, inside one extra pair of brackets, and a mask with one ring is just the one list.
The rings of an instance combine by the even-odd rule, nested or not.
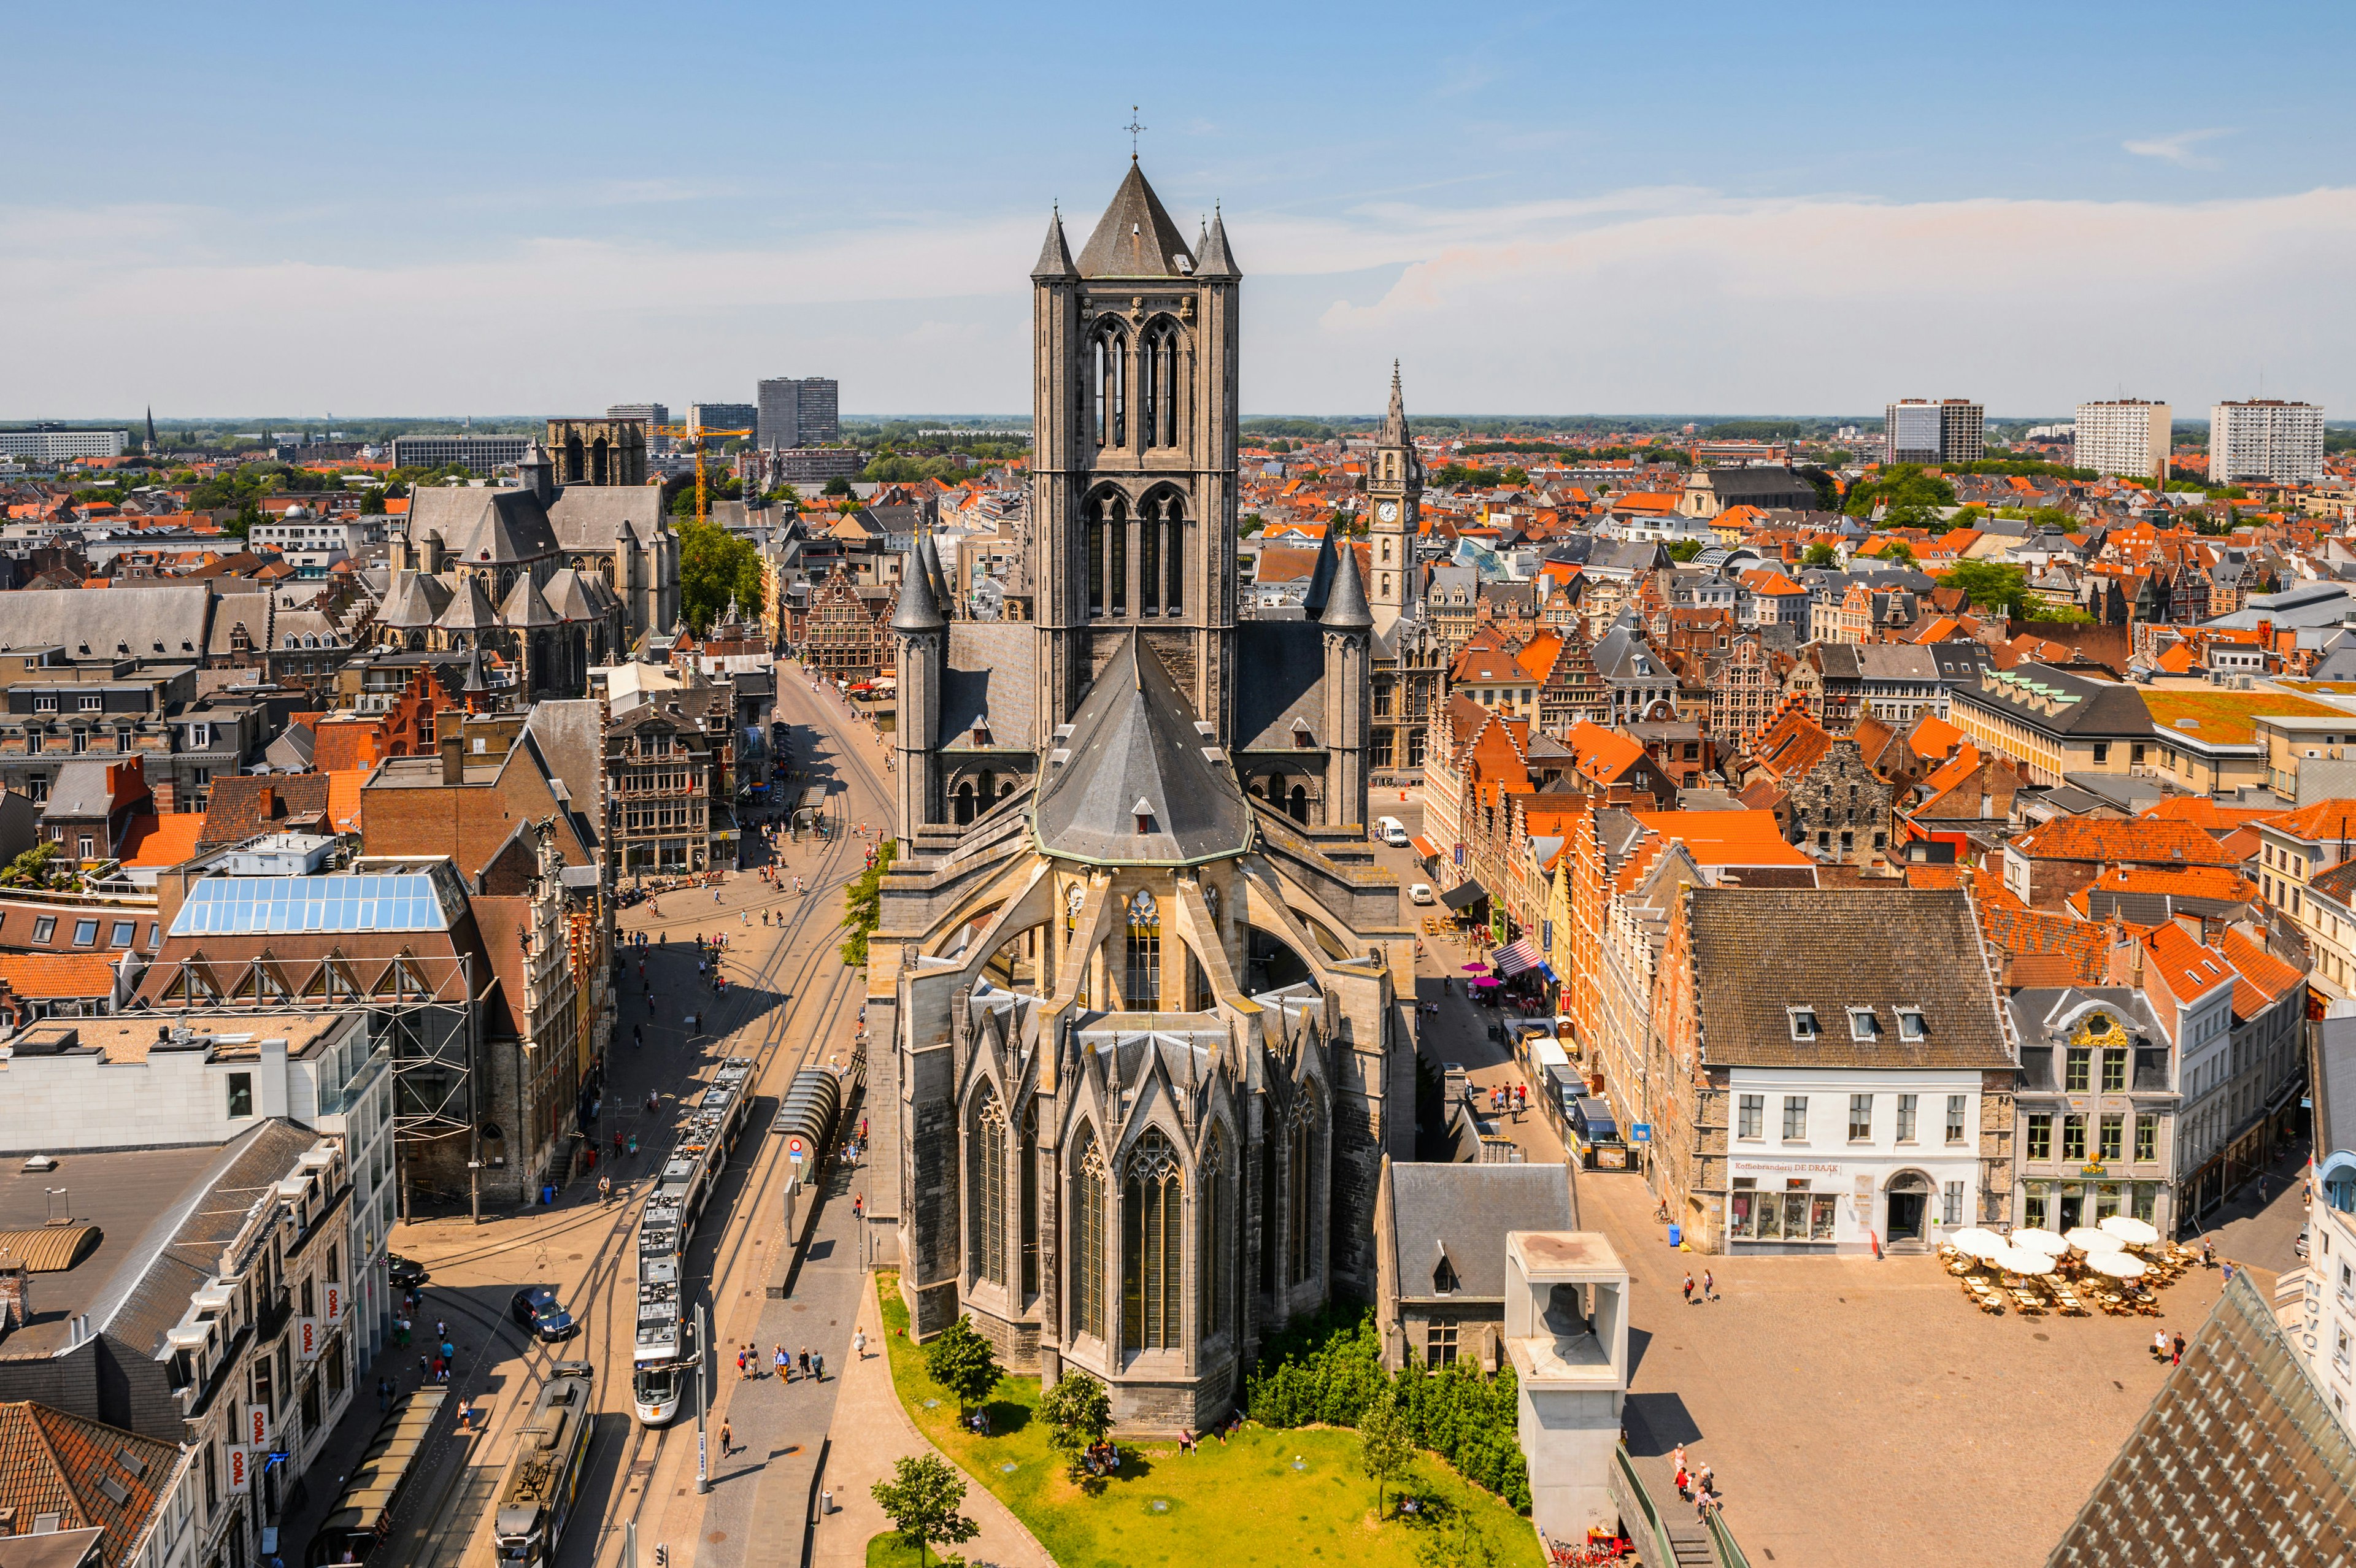
[[(1074, 250), (1086, 226), (1074, 217)], [(846, 410), (1015, 412), (1041, 228), (1041, 212), (909, 214), (775, 245), (443, 235), (426, 252), (320, 224), (309, 250), (254, 254), (229, 212), (0, 210), (0, 414), (563, 412), (813, 372), (843, 381)], [(1230, 212), (1227, 233), (1253, 412), (1371, 412), (1392, 356), (1432, 412), (1864, 412), (1894, 396), (2062, 412), (2113, 386), (2193, 410), (2259, 363), (2290, 396), (2356, 405), (2337, 287), (2356, 188), (2198, 205), (1385, 198)]]

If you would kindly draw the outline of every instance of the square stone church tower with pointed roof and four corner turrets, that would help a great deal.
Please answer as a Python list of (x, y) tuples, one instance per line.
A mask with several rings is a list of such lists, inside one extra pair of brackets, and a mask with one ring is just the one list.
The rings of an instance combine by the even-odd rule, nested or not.
[(1227, 744), (1242, 273), (1187, 247), (1136, 158), (1081, 247), (1032, 268), (1032, 589), (1041, 737), (1131, 631)]

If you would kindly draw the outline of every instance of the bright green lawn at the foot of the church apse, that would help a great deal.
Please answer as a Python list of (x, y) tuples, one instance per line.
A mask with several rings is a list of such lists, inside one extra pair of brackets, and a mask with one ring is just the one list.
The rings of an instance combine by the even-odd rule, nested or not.
[[(907, 1342), (900, 1281), (879, 1274), (884, 1344), (893, 1384), (919, 1431), (957, 1460), (1046, 1544), (1060, 1568), (1107, 1563), (1154, 1568), (1418, 1568), (1416, 1542), (1432, 1528), (1397, 1516), (1374, 1519), (1374, 1481), (1357, 1469), (1357, 1434), (1338, 1429), (1270, 1431), (1244, 1427), (1225, 1446), (1204, 1441), (1199, 1453), (1176, 1443), (1121, 1443), (1121, 1474), (1086, 1493), (1063, 1474), (1048, 1448), (1037, 1377), (1008, 1377), (990, 1401), (990, 1429), (975, 1436), (957, 1422), (957, 1401), (924, 1370), (924, 1351)], [(1475, 1526), (1496, 1549), (1501, 1568), (1541, 1561), (1538, 1537), (1489, 1493), (1461, 1481), (1444, 1462), (1423, 1455), (1407, 1493), (1425, 1502), (1425, 1519), (1472, 1509)], [(1449, 1530), (1454, 1535), (1454, 1530)], [(876, 1544), (881, 1542), (881, 1544)], [(869, 1542), (867, 1561), (898, 1563), (891, 1537)], [(907, 1554), (914, 1563), (914, 1554)]]

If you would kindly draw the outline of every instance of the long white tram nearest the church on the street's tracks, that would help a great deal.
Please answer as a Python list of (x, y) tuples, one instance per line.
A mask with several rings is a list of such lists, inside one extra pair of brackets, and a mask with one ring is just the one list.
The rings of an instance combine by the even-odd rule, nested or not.
[(723, 1057), (712, 1083), (688, 1107), (638, 1212), (638, 1328), (631, 1351), (631, 1406), (648, 1427), (679, 1415), (679, 1396), (695, 1375), (695, 1311), (688, 1302), (686, 1260), (695, 1222), (728, 1170), (728, 1156), (752, 1111), (752, 1057)]

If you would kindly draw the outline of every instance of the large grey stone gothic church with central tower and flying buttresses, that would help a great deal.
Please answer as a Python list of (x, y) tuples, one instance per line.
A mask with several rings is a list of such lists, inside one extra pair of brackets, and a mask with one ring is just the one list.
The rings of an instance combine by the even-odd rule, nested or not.
[(1371, 1300), (1414, 1156), (1376, 612), (1329, 546), (1305, 614), (1237, 619), (1239, 311), (1225, 226), (1187, 245), (1136, 160), (1077, 259), (1053, 219), (1011, 614), (952, 619), (921, 539), (893, 617), (869, 1222), (914, 1333), (966, 1314), (1131, 1429), (1218, 1420), (1270, 1333)]

